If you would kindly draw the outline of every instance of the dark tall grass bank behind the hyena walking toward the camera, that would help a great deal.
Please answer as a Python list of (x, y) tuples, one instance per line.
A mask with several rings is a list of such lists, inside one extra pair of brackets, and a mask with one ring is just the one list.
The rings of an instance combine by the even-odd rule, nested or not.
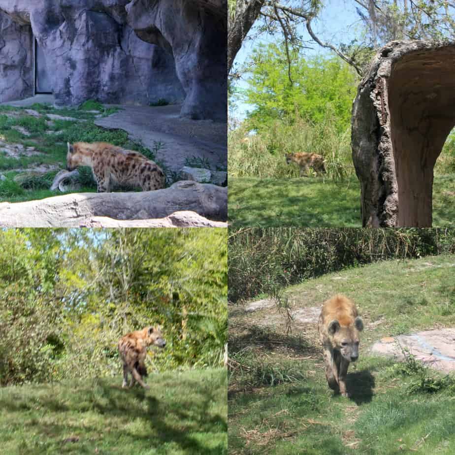
[(231, 302), (378, 260), (455, 252), (455, 229), (243, 228), (228, 238)]

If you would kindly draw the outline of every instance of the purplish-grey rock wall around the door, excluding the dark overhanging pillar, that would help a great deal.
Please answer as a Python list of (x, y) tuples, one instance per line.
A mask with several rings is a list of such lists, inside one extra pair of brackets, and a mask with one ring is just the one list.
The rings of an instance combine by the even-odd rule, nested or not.
[[(10, 29), (25, 28), (31, 46), (32, 31), (43, 49), (57, 105), (77, 105), (87, 99), (140, 104), (160, 98), (183, 101), (185, 92), (172, 55), (135, 35), (125, 22), (126, 12), (121, 3), (47, 0), (37, 4), (1, 0), (0, 8), (9, 14), (9, 18), (3, 16), (12, 24)], [(29, 21), (30, 25), (19, 27), (14, 21)], [(16, 36), (9, 33), (7, 39), (10, 47), (19, 47)], [(32, 65), (31, 46), (24, 59)], [(16, 66), (20, 67), (12, 62), (11, 67)], [(13, 80), (17, 76), (10, 71), (3, 79), (4, 85)], [(2, 100), (31, 96), (32, 72), (28, 84), (28, 92), (16, 89), (6, 93), (0, 88)]]

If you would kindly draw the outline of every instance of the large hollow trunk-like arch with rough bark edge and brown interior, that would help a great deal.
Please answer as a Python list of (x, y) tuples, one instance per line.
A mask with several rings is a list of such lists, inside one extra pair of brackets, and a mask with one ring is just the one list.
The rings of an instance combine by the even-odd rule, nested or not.
[(362, 225), (431, 227), (433, 167), (455, 126), (455, 43), (392, 41), (353, 106)]

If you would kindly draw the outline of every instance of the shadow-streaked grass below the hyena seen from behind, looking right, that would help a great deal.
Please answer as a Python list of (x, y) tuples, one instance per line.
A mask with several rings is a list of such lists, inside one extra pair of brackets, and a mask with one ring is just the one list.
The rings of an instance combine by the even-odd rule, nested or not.
[[(21, 418), (27, 432), (41, 438), (40, 447), (43, 452), (49, 451), (46, 453), (57, 450), (61, 454), (93, 454), (97, 444), (103, 447), (100, 454), (108, 453), (104, 452), (106, 446), (119, 450), (118, 441), (122, 441), (121, 447), (141, 450), (171, 443), (188, 454), (224, 453), (219, 446), (209, 449), (195, 437), (195, 433), (227, 432), (226, 418), (213, 413), (213, 403), (219, 402), (219, 396), (197, 381), (182, 382), (186, 393), (177, 390), (167, 401), (154, 396), (153, 384), (148, 391), (139, 387), (124, 390), (100, 380), (92, 387), (75, 390), (48, 386), (33, 400), (19, 397), (17, 391), (3, 394), (0, 407), (5, 413), (21, 413), (14, 420)], [(36, 415), (37, 410), (46, 418)], [(129, 430), (138, 420), (141, 431)], [(23, 448), (21, 453), (34, 454), (33, 450)]]

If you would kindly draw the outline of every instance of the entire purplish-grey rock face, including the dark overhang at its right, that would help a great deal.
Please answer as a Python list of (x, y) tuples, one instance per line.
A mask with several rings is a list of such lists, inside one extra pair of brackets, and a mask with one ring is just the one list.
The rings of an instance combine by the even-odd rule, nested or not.
[(226, 120), (227, 0), (0, 0), (0, 11), (4, 60), (16, 59), (4, 101), (33, 92), (34, 36), (57, 105), (184, 100), (183, 116)]

